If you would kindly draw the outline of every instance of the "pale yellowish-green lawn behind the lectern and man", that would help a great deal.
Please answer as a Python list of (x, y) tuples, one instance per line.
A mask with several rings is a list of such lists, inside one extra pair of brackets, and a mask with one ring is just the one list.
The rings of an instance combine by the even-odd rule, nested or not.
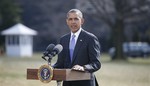
[[(39, 68), (47, 64), (41, 55), (36, 53), (32, 58), (0, 56), (0, 86), (56, 86), (55, 81), (44, 84), (39, 80), (26, 79), (27, 68)], [(54, 58), (52, 63), (56, 59)], [(150, 58), (130, 58), (126, 62), (111, 62), (107, 54), (102, 54), (101, 63), (102, 68), (95, 73), (100, 86), (150, 85)]]

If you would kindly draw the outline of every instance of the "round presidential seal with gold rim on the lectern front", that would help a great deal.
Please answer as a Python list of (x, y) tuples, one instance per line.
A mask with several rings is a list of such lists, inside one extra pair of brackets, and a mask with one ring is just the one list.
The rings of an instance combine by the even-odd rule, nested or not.
[(42, 65), (38, 70), (38, 78), (43, 83), (49, 83), (53, 77), (53, 68), (49, 65)]

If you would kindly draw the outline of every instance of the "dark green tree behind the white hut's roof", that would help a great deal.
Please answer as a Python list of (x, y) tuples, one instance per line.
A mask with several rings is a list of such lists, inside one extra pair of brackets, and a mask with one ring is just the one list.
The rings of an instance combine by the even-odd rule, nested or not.
[[(21, 22), (21, 8), (15, 0), (0, 0), (0, 32)], [(0, 36), (0, 45), (4, 44), (4, 37)]]

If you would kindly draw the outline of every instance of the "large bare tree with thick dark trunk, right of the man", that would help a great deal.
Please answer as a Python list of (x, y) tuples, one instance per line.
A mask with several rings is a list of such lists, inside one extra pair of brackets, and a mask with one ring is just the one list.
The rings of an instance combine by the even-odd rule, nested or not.
[[(132, 24), (149, 19), (149, 0), (89, 0), (96, 13), (95, 17), (105, 22), (112, 29), (112, 42), (116, 48), (112, 60), (125, 60), (123, 42), (124, 28)], [(111, 10), (110, 10), (111, 9)], [(146, 18), (145, 18), (146, 17)]]

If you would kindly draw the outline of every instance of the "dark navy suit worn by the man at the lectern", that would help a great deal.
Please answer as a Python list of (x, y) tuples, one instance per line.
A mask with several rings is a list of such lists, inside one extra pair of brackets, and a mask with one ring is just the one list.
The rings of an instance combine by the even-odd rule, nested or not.
[(93, 74), (101, 67), (101, 63), (98, 59), (100, 57), (100, 44), (97, 37), (85, 30), (81, 30), (71, 63), (69, 54), (70, 36), (71, 33), (64, 35), (60, 39), (60, 44), (63, 46), (63, 50), (58, 55), (57, 62), (53, 67), (72, 68), (74, 65), (78, 64), (84, 66), (85, 70), (91, 73), (92, 79), (81, 81), (64, 81), (63, 86), (98, 86), (95, 83), (95, 76)]

